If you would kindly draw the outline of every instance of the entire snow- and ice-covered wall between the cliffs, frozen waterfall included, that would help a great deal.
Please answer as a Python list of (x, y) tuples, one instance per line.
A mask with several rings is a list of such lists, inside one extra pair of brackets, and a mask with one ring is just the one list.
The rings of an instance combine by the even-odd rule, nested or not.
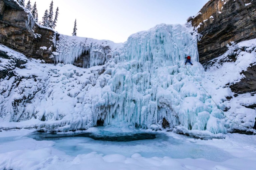
[[(55, 60), (64, 64), (27, 59), (1, 45), (1, 51), (9, 55), (1, 59), (1, 69), (11, 70), (15, 76), (0, 82), (0, 128), (66, 131), (93, 127), (101, 119), (104, 125), (124, 122), (161, 129), (163, 118), (171, 128), (192, 133), (226, 133), (236, 126), (200, 85), (221, 109), (232, 103), (223, 103), (233, 94), (224, 81), (215, 80), (220, 73), (205, 72), (197, 62), (197, 37), (191, 27), (161, 24), (131, 35), (123, 44), (61, 36), (57, 45)], [(86, 51), (90, 68), (71, 65)], [(194, 65), (184, 68), (187, 55), (192, 56)], [(26, 61), (24, 68), (12, 66), (21, 59)], [(256, 113), (250, 112), (250, 116), (243, 115), (242, 122), (235, 121), (252, 126)]]

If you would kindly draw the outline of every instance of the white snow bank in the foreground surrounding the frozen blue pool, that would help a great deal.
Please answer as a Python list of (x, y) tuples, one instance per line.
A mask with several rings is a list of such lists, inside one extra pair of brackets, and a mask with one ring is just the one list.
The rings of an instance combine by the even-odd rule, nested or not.
[[(229, 155), (225, 161), (213, 161), (205, 158), (183, 158), (174, 159), (169, 156), (163, 157), (143, 157), (140, 154), (141, 147), (136, 147), (136, 151), (131, 156), (124, 156), (123, 154), (102, 154), (102, 152), (95, 152), (95, 147), (91, 147), (87, 154), (78, 154), (74, 156), (68, 155), (63, 152), (61, 148), (56, 149), (54, 141), (43, 140), (36, 141), (32, 138), (24, 137), (26, 133), (30, 133), (28, 130), (13, 130), (0, 132), (0, 169), (127, 169), (127, 170), (162, 170), (162, 169), (175, 169), (175, 170), (196, 170), (196, 169), (237, 169), (237, 170), (252, 170), (256, 166), (256, 136), (255, 135), (242, 135), (242, 134), (227, 134), (225, 139), (213, 139), (213, 140), (201, 140), (193, 139), (184, 136), (177, 136), (172, 132), (164, 132), (168, 136), (173, 136), (178, 141), (177, 143), (166, 143), (166, 147), (180, 147), (180, 142), (187, 143), (189, 145), (201, 145), (205, 150), (209, 149), (208, 154), (212, 154), (212, 159), (218, 158), (222, 153)], [(165, 136), (166, 138), (167, 136)], [(65, 140), (60, 140), (64, 142)], [(82, 139), (76, 140), (76, 142), (84, 143)], [(144, 142), (144, 141), (140, 141)], [(93, 143), (96, 143), (93, 141)], [(125, 142), (126, 143), (126, 142)], [(138, 141), (139, 143), (139, 141)], [(66, 144), (64, 148), (67, 149)], [(70, 144), (70, 143), (69, 143)], [(162, 147), (159, 141), (155, 142), (148, 153), (155, 154), (156, 149)], [(105, 142), (105, 148), (117, 148), (117, 150), (125, 150), (120, 148), (116, 142)], [(134, 143), (126, 145), (126, 149), (134, 148)], [(76, 148), (81, 148), (81, 145), (76, 145)], [(219, 152), (213, 152), (212, 148), (221, 150)], [(70, 151), (73, 151), (73, 147)], [(82, 148), (85, 149), (85, 148)], [(163, 148), (164, 149), (164, 148)], [(198, 154), (198, 148), (194, 148), (194, 154)], [(129, 150), (130, 151), (130, 150)], [(183, 150), (186, 153), (186, 150)], [(189, 153), (191, 154), (191, 153)], [(193, 154), (192, 154), (193, 155)], [(230, 157), (231, 155), (231, 157)], [(202, 156), (202, 155), (201, 155)]]

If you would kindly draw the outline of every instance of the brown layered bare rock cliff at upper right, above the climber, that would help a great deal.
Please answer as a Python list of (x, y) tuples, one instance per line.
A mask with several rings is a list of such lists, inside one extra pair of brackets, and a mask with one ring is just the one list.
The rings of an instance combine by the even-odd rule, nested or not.
[(227, 51), (226, 45), (256, 38), (256, 1), (210, 0), (192, 19), (202, 35), (198, 42), (199, 61), (207, 61)]

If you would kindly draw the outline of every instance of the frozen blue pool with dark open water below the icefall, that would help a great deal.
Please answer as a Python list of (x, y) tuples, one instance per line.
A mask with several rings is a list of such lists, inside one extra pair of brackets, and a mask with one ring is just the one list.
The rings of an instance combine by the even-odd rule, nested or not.
[(80, 133), (33, 133), (28, 137), (36, 140), (52, 140), (56, 149), (71, 156), (88, 154), (121, 154), (131, 157), (135, 153), (143, 157), (206, 158), (225, 161), (233, 158), (229, 153), (209, 145), (191, 142), (188, 137), (176, 139), (165, 133), (151, 132), (111, 132), (98, 129)]

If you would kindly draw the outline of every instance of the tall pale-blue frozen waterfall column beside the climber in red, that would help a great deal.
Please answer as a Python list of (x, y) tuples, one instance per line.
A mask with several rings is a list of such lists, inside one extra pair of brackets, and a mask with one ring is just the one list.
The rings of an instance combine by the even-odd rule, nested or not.
[[(92, 100), (94, 122), (113, 119), (142, 128), (159, 128), (163, 118), (174, 127), (205, 130), (212, 107), (184, 67), (199, 80), (204, 69), (198, 61), (196, 33), (181, 25), (158, 25), (129, 37), (112, 56), (105, 73), (111, 79)], [(161, 125), (162, 126), (162, 125)], [(224, 132), (224, 131), (220, 131)]]

